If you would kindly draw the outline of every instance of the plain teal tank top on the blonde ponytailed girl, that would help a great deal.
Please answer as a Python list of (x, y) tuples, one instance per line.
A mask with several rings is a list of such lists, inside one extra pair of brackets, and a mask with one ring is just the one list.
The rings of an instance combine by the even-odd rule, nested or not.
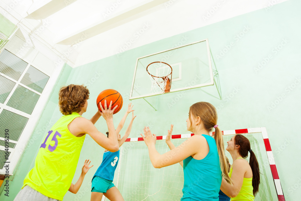
[(205, 158), (196, 160), (189, 156), (183, 160), (184, 187), (181, 201), (218, 201), (222, 184), (222, 171), (216, 142), (209, 135), (202, 135), (209, 145)]

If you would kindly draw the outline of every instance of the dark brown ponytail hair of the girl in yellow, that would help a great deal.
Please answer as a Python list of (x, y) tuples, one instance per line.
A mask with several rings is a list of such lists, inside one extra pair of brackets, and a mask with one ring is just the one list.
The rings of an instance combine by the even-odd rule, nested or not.
[(253, 173), (253, 179), (252, 179), (253, 195), (256, 196), (259, 190), (260, 172), (259, 172), (259, 165), (256, 156), (254, 152), (251, 150), (250, 141), (248, 140), (248, 138), (244, 137), (243, 135), (237, 134), (234, 137), (234, 142), (235, 144), (240, 146), (238, 148), (238, 152), (243, 158), (247, 158), (248, 152), (250, 150), (249, 164)]

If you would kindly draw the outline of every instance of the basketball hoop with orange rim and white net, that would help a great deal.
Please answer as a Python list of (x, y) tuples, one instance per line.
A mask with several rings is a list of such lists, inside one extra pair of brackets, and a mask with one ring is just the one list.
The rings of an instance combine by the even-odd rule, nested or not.
[[(156, 65), (157, 63), (160, 63), (160, 65)], [(163, 64), (163, 66), (161, 66), (161, 64)], [(167, 66), (164, 64), (166, 64)], [(165, 68), (167, 69), (165, 70)], [(146, 71), (151, 78), (151, 93), (160, 92), (161, 94), (163, 94), (170, 91), (172, 67), (169, 64), (162, 61), (155, 61), (147, 65)]]

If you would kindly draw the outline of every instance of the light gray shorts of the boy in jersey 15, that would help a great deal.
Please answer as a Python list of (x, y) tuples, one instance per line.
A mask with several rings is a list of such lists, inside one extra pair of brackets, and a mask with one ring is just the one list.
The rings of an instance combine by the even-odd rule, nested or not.
[(19, 191), (14, 201), (57, 201), (57, 199), (53, 199), (43, 195), (42, 193), (34, 190), (32, 187), (26, 185), (23, 189)]

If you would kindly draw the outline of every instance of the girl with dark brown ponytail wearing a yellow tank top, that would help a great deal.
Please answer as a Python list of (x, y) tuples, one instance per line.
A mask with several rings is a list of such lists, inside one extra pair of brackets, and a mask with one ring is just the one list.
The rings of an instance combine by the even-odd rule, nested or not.
[[(228, 184), (224, 179), (221, 190), (231, 196), (232, 200), (254, 200), (258, 193), (260, 184), (259, 165), (254, 152), (251, 149), (250, 141), (243, 135), (237, 134), (227, 142), (226, 150), (231, 154), (233, 164), (229, 176), (233, 184)], [(250, 163), (246, 158), (250, 153)]]

